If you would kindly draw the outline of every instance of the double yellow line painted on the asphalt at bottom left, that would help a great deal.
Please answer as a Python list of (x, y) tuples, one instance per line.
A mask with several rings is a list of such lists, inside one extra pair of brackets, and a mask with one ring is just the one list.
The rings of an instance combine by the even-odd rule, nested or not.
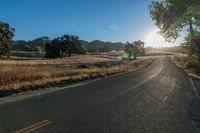
[(44, 121), (41, 121), (41, 122), (37, 122), (35, 124), (32, 124), (26, 128), (23, 128), (23, 129), (20, 129), (18, 131), (15, 131), (14, 133), (30, 133), (30, 132), (33, 132), (39, 128), (42, 128), (44, 126), (47, 126), (49, 124), (51, 124), (52, 122), (49, 121), (49, 120), (44, 120)]

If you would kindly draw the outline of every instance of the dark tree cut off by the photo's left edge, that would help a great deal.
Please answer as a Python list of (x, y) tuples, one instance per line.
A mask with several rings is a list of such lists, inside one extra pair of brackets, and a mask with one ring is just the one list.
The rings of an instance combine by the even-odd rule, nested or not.
[(10, 57), (14, 31), (9, 24), (0, 22), (0, 56)]

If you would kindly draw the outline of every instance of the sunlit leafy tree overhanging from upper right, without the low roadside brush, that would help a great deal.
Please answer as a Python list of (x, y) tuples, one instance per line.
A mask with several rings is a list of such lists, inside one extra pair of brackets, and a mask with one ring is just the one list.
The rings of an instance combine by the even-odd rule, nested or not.
[(149, 10), (155, 25), (163, 37), (174, 42), (183, 28), (188, 28), (187, 41), (193, 45), (200, 61), (200, 0), (162, 0), (153, 1)]

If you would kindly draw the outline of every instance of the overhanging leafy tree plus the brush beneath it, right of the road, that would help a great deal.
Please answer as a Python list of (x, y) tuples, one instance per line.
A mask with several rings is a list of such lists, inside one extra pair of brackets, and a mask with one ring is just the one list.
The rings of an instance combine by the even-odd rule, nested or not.
[(168, 42), (174, 42), (187, 29), (181, 44), (184, 55), (174, 57), (176, 64), (193, 74), (200, 74), (200, 1), (153, 1), (149, 10), (159, 33)]

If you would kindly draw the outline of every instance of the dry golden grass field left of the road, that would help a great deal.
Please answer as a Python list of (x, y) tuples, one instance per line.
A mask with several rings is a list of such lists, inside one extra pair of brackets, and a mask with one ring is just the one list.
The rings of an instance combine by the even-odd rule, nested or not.
[[(52, 60), (0, 60), (0, 90), (76, 82), (142, 69), (156, 57), (117, 60), (108, 55), (83, 55)], [(89, 64), (89, 68), (79, 68)]]

